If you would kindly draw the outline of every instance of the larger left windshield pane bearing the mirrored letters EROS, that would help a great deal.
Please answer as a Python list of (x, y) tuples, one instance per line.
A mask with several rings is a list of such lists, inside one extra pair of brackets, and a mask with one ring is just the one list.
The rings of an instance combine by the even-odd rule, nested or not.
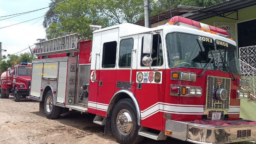
[(185, 33), (166, 36), (169, 67), (206, 68), (217, 70), (212, 38)]

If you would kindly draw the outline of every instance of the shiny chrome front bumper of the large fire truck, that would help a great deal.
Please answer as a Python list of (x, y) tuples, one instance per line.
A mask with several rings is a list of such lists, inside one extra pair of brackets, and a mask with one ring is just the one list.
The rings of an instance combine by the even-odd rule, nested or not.
[[(248, 120), (226, 121), (228, 123), (251, 122)], [(165, 121), (167, 136), (199, 144), (221, 144), (256, 140), (256, 124), (212, 126), (173, 120)]]

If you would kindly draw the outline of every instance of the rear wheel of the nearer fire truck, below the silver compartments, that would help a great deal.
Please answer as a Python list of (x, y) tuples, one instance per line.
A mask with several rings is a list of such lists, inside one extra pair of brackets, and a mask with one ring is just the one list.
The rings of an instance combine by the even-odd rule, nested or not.
[(49, 90), (44, 99), (44, 113), (46, 118), (55, 119), (60, 115), (61, 107), (53, 105), (52, 90)]

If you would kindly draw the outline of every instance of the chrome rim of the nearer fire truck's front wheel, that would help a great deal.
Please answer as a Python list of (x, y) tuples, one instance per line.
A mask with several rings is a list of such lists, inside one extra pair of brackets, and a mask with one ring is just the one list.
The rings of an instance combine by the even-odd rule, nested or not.
[(132, 115), (131, 113), (126, 110), (122, 109), (116, 118), (116, 125), (118, 128), (118, 131), (122, 135), (128, 135), (132, 131)]

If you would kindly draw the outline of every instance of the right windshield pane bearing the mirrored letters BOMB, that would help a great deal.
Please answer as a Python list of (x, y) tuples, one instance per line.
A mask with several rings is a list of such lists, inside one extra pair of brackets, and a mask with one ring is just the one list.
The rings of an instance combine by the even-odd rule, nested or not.
[(236, 46), (220, 40), (215, 40), (215, 44), (220, 70), (241, 75)]

